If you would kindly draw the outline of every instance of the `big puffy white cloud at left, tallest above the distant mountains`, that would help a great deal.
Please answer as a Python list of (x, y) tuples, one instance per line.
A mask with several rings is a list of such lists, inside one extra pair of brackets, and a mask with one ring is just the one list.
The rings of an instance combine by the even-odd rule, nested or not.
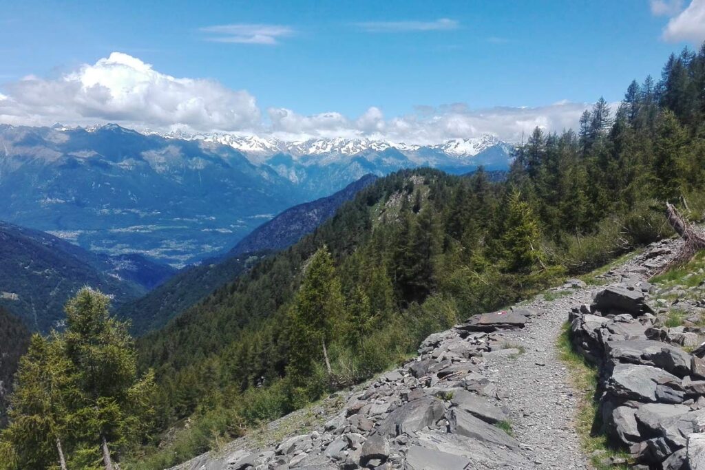
[(174, 78), (114, 52), (49, 80), (27, 76), (6, 86), (0, 121), (117, 122), (194, 130), (247, 130), (260, 122), (255, 97), (214, 80)]

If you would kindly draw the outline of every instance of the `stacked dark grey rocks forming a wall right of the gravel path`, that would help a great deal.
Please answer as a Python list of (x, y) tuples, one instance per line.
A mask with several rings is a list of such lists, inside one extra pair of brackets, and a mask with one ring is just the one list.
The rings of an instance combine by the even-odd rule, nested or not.
[(646, 272), (572, 309), (572, 341), (599, 364), (603, 431), (630, 450), (632, 468), (705, 469), (705, 345), (687, 352), (698, 333), (659, 326)]

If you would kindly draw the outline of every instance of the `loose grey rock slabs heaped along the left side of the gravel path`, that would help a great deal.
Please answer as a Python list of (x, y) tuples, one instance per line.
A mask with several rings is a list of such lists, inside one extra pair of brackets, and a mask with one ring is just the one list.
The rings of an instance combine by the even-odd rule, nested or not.
[(498, 332), (523, 328), (533, 313), (484, 314), (430, 335), (417, 358), (350, 395), (319, 430), (273, 448), (200, 457), (178, 468), (525, 469), (529, 462), (510, 435), (508, 411), (484, 374), (484, 357), (519, 354)]

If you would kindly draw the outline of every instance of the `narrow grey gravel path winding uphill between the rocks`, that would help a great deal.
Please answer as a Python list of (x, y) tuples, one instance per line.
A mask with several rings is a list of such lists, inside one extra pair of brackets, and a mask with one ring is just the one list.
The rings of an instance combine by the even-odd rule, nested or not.
[[(678, 246), (665, 240), (663, 247)], [(529, 304), (538, 315), (523, 330), (505, 333), (507, 342), (522, 345), (519, 357), (489, 359), (488, 375), (510, 409), (512, 426), (525, 456), (540, 469), (589, 469), (589, 459), (580, 447), (575, 416), (580, 390), (570, 383), (569, 371), (558, 355), (557, 340), (572, 307), (590, 304), (606, 285), (624, 278), (646, 280), (660, 266), (648, 254), (635, 256), (603, 275), (603, 284), (569, 290), (569, 295), (547, 302), (539, 296)]]

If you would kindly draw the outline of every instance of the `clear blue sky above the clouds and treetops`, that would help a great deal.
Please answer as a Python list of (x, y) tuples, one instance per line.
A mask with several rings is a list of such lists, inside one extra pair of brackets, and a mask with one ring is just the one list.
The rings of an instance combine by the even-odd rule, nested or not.
[[(45, 85), (61, 80), (116, 51), (160, 74), (245, 90), (259, 116), (212, 129), (244, 132), (269, 125), (270, 109), (300, 120), (324, 112), (359, 120), (374, 107), (388, 121), (424, 120), (458, 103), (477, 113), (618, 101), (632, 78), (658, 76), (670, 52), (705, 38), (703, 0), (0, 3), (0, 93), (32, 116), (28, 123), (123, 117), (70, 109), (65, 100), (56, 106), (67, 106), (66, 116), (56, 106), (32, 109), (16, 87), (27, 75)], [(682, 24), (664, 33), (675, 20)], [(23, 121), (2, 103), (0, 121)], [(306, 122), (302, 134), (317, 132)]]

